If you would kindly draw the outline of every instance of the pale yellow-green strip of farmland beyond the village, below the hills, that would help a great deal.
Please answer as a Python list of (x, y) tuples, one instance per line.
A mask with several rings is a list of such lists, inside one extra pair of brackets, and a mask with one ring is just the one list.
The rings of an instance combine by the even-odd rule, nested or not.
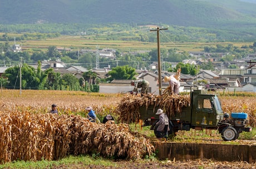
[[(2, 36), (4, 33), (0, 33)], [(8, 33), (9, 37), (21, 37), (22, 34)], [(4, 43), (1, 41), (0, 43)], [(85, 35), (85, 36), (69, 36), (61, 35), (56, 38), (43, 38), (40, 40), (21, 40), (16, 41), (17, 44), (22, 45), (23, 50), (30, 52), (38, 50), (47, 50), (49, 46), (56, 46), (62, 48), (70, 48), (73, 51), (80, 49), (96, 49), (98, 46), (101, 49), (119, 49), (123, 52), (132, 52), (138, 50), (151, 50), (157, 48), (157, 43), (150, 42), (135, 42), (135, 41), (124, 41), (124, 40), (107, 40), (104, 38), (97, 38), (95, 35)], [(12, 44), (12, 42), (9, 42)], [(13, 42), (14, 44), (14, 42)], [(252, 45), (252, 43), (242, 43), (242, 42), (219, 42), (219, 43), (174, 43), (168, 42), (163, 43), (160, 39), (160, 48), (163, 49), (176, 49), (178, 51), (185, 52), (199, 52), (203, 51), (204, 47), (215, 47), (217, 44), (228, 45), (233, 44), (235, 47), (242, 47), (243, 45)]]

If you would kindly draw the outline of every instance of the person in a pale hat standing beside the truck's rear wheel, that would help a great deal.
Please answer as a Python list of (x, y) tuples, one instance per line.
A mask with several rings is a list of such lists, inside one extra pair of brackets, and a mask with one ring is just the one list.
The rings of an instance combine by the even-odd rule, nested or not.
[(168, 131), (170, 131), (168, 116), (164, 113), (162, 109), (158, 109), (156, 115), (159, 115), (159, 121), (157, 121), (155, 124), (155, 126), (157, 126), (156, 137), (166, 138), (168, 136)]

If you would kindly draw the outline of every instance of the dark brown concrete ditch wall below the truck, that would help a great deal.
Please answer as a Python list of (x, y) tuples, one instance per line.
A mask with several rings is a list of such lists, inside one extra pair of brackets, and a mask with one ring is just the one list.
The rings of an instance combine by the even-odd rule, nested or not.
[(223, 145), (153, 142), (157, 156), (161, 160), (211, 159), (218, 161), (256, 162), (256, 145)]

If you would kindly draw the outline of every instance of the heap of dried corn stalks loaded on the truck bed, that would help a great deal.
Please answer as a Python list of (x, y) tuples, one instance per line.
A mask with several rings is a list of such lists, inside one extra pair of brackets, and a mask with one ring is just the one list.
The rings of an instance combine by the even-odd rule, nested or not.
[(119, 114), (118, 120), (120, 122), (129, 124), (131, 122), (139, 122), (139, 109), (141, 106), (145, 106), (146, 109), (149, 106), (159, 107), (170, 117), (175, 113), (181, 112), (183, 106), (189, 105), (189, 95), (176, 95), (169, 86), (161, 96), (154, 94), (144, 96), (127, 94), (117, 105), (116, 113)]

